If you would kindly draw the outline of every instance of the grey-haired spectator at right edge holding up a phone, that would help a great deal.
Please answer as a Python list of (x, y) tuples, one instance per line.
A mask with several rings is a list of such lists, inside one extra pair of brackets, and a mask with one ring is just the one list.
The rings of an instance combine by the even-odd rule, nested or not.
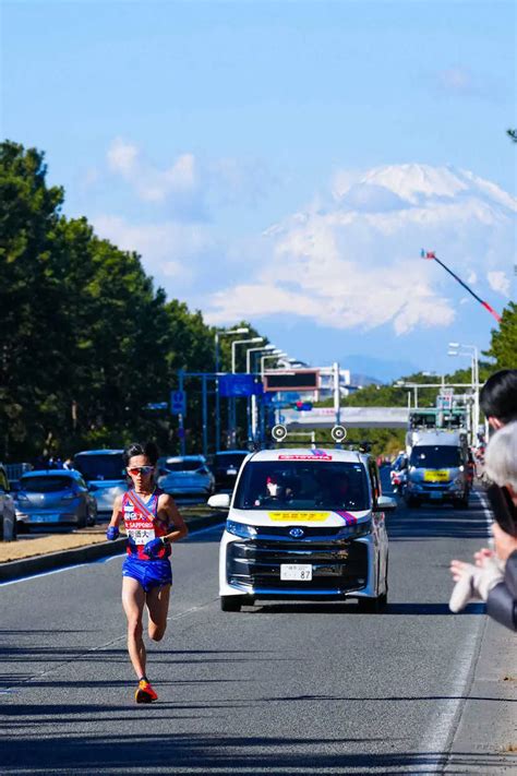
[[(505, 416), (504, 416), (505, 417)], [(497, 418), (494, 418), (497, 420)], [(453, 560), (456, 587), (452, 611), (469, 600), (485, 600), (486, 612), (512, 631), (517, 630), (517, 421), (502, 423), (486, 447), (486, 474), (495, 523), (495, 552), (486, 548), (474, 554), (476, 565)]]

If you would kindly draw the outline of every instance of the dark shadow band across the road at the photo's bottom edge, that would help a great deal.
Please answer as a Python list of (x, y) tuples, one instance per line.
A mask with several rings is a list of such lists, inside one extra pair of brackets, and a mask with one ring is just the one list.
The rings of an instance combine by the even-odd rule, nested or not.
[[(106, 707), (97, 707), (106, 712)], [(38, 706), (41, 712), (41, 707)], [(52, 709), (55, 711), (55, 709)], [(96, 707), (88, 707), (95, 713)], [(120, 711), (118, 707), (111, 712)], [(160, 707), (151, 709), (159, 714)], [(164, 707), (161, 706), (161, 713)], [(394, 740), (393, 745), (397, 745)], [(31, 768), (31, 773), (194, 773), (243, 774), (264, 776), (270, 773), (314, 774), (325, 769), (333, 774), (351, 773), (436, 773), (444, 764), (441, 752), (372, 751), (380, 739), (278, 737), (228, 737), (170, 733), (140, 736), (71, 736), (67, 738), (24, 738), (3, 744), (3, 773)], [(327, 751), (322, 751), (327, 750)], [(501, 766), (498, 755), (461, 752), (461, 773), (490, 774)], [(23, 763), (23, 766), (22, 766)], [(9, 771), (8, 771), (9, 768)], [(429, 768), (429, 771), (428, 771)], [(142, 771), (141, 771), (142, 769)]]

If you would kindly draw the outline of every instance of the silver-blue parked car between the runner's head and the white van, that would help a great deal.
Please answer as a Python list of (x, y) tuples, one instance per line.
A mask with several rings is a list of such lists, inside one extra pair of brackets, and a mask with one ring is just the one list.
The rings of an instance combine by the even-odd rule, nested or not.
[(171, 496), (200, 496), (215, 491), (215, 478), (204, 455), (176, 455), (158, 459), (158, 486)]

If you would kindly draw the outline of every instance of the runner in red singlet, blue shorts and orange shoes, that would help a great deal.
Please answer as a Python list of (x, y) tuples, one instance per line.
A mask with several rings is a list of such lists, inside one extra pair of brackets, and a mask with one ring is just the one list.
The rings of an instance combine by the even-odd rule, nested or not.
[(108, 539), (117, 539), (123, 520), (128, 558), (122, 566), (122, 606), (128, 618), (128, 652), (139, 678), (134, 694), (136, 703), (152, 703), (158, 699), (146, 674), (144, 606), (148, 612), (149, 638), (159, 642), (167, 628), (172, 585), (170, 545), (189, 533), (172, 497), (155, 485), (157, 459), (158, 450), (153, 442), (128, 447), (124, 463), (133, 487), (117, 498), (106, 532)]

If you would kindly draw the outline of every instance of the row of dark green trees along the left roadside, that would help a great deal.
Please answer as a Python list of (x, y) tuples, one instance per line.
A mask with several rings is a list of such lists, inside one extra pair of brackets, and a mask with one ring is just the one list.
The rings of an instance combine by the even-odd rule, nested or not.
[[(41, 152), (0, 144), (0, 457), (67, 456), (146, 437), (172, 452), (176, 419), (146, 407), (168, 401), (179, 369), (214, 371), (215, 330), (168, 300), (137, 253), (97, 237), (86, 218), (65, 217), (63, 189), (46, 176)], [(229, 339), (220, 338), (221, 370), (230, 369)], [(241, 371), (243, 358), (240, 348)], [(201, 395), (194, 381), (191, 389), (195, 446)]]

